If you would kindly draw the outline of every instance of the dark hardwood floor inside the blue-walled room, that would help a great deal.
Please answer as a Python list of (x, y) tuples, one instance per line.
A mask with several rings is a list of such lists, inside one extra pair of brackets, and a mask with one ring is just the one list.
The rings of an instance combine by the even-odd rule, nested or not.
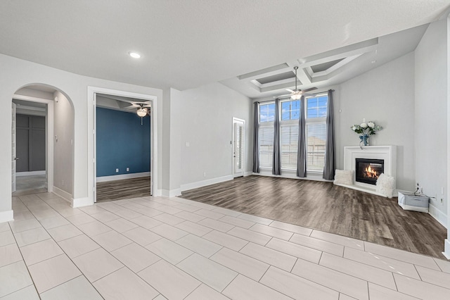
[(150, 196), (150, 177), (97, 182), (97, 202)]

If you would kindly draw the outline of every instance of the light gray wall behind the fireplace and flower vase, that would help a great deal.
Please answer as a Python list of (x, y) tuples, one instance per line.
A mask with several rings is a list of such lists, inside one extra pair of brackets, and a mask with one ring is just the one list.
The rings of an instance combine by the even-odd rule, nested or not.
[(397, 146), (397, 188), (413, 190), (414, 54), (342, 83), (334, 95), (337, 167), (344, 166), (344, 146), (359, 145), (359, 135), (350, 126), (360, 124), (363, 118), (373, 120), (383, 130), (370, 137), (370, 144)]

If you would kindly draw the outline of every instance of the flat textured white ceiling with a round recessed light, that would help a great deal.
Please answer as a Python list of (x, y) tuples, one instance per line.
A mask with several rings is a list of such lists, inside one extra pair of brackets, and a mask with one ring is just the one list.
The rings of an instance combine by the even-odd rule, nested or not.
[(449, 4), (4, 0), (0, 53), (91, 77), (188, 89), (430, 23)]

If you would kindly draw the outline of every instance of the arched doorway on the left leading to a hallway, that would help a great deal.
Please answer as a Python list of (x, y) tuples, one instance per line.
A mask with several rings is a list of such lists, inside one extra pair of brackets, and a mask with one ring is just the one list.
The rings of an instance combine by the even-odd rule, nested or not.
[[(71, 201), (75, 132), (72, 101), (60, 89), (44, 84), (21, 87), (12, 101), (13, 195), (14, 185), (22, 182), (22, 194), (55, 192)], [(24, 149), (18, 152), (18, 147)]]

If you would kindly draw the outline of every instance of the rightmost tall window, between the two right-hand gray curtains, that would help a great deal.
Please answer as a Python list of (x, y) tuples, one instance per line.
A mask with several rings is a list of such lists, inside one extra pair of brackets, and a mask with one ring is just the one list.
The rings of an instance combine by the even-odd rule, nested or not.
[(328, 95), (307, 97), (307, 170), (322, 171), (325, 165), (326, 108)]

